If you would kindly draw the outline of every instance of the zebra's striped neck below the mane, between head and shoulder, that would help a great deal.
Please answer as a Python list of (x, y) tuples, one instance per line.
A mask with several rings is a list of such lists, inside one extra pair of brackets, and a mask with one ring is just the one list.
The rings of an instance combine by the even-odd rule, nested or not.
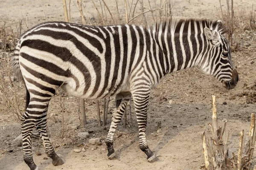
[(201, 66), (204, 54), (209, 46), (201, 35), (181, 32), (171, 34), (155, 32), (152, 34), (153, 52), (156, 63), (159, 65), (160, 78), (174, 71)]

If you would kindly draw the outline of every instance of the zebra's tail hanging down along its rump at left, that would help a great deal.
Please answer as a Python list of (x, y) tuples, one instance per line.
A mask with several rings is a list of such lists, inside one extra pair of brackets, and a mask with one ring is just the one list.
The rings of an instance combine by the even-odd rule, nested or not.
[[(23, 79), (21, 71), (20, 71), (19, 56), (20, 56), (20, 40), (18, 40), (17, 45), (16, 45), (15, 50), (14, 50), (14, 55), (11, 58), (11, 65), (12, 65), (13, 71), (15, 72), (15, 74), (17, 75), (19, 80), (21, 80), (25, 85), (24, 79)], [(26, 88), (26, 85), (25, 85), (25, 88)], [(29, 94), (28, 89), (26, 88), (26, 106), (25, 106), (25, 110), (27, 109), (27, 107), (29, 105), (29, 101), (30, 101), (30, 94)]]

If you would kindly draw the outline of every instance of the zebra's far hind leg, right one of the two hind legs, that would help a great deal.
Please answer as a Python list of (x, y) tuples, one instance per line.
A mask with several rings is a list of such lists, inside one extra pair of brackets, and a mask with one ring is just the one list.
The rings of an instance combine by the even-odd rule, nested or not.
[(52, 164), (54, 166), (58, 166), (58, 165), (64, 164), (64, 162), (55, 153), (55, 151), (52, 147), (52, 144), (49, 140), (49, 137), (47, 135), (47, 110), (48, 110), (48, 107), (46, 108), (46, 110), (44, 111), (42, 116), (38, 119), (35, 126), (36, 126), (36, 129), (38, 130), (38, 133), (43, 141), (45, 153), (47, 154), (48, 157), (50, 157), (52, 159)]

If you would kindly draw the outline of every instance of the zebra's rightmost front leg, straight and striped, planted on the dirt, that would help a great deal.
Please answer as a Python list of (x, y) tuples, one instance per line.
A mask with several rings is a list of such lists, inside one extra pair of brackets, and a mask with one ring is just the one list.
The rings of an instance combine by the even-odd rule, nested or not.
[(149, 162), (154, 162), (156, 156), (149, 149), (146, 140), (146, 125), (147, 125), (147, 106), (150, 90), (137, 90), (133, 93), (134, 108), (139, 126), (140, 150), (147, 155)]

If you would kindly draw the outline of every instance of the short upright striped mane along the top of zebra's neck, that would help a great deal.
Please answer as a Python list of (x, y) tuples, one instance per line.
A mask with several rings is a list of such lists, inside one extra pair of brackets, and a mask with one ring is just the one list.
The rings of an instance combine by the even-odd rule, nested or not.
[[(156, 32), (167, 31), (167, 33), (177, 33), (180, 31), (180, 26), (183, 23), (184, 23), (184, 28), (187, 28), (190, 22), (192, 22), (192, 23), (195, 22), (197, 24), (198, 28), (200, 28), (200, 25), (202, 25), (203, 27), (207, 27), (212, 30), (218, 31), (220, 34), (225, 34), (228, 31), (227, 28), (221, 22), (212, 21), (212, 20), (198, 20), (198, 19), (186, 19), (186, 20), (184, 20), (184, 19), (181, 19), (181, 20), (173, 19), (172, 20), (171, 19), (168, 21), (162, 21), (160, 23), (156, 23), (156, 24), (152, 25), (149, 29), (152, 31), (156, 31)], [(195, 32), (194, 27), (192, 27), (191, 32), (192, 33)]]

